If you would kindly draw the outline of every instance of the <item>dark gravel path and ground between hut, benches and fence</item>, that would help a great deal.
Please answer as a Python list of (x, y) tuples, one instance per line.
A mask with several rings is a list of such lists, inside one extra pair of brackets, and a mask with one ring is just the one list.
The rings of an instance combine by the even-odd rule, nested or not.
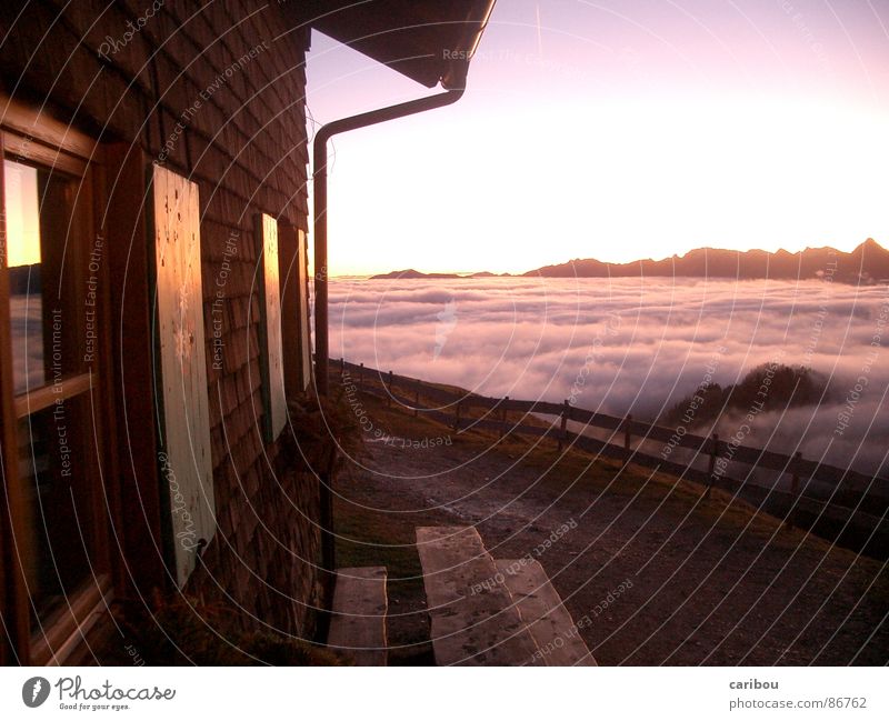
[(390, 565), (396, 659), (430, 660), (413, 528), (465, 523), (543, 564), (600, 664), (889, 661), (881, 562), (692, 483), (438, 430), (450, 445), (370, 442), (339, 484), (363, 557)]

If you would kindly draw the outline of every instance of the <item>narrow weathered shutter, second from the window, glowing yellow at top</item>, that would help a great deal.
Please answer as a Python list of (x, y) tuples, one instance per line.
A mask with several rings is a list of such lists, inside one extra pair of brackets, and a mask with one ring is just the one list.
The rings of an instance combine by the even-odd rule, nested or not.
[(287, 422), (283, 350), (281, 347), (281, 289), (278, 266), (278, 221), (262, 213), (257, 217), (257, 232), (262, 239), (260, 282), (262, 322), (261, 368), (266, 400), (266, 439), (273, 441)]

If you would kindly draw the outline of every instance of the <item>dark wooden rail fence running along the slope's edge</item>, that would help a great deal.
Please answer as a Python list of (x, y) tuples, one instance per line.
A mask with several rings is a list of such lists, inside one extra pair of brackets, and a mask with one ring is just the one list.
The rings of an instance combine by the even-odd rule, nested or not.
[[(459, 392), (441, 384), (414, 378), (397, 375), (392, 371), (354, 364), (340, 359), (331, 362), (331, 371), (342, 384), (353, 383), (362, 392), (377, 394), (389, 404), (398, 403), (414, 415), (447, 423), (457, 431), (469, 429), (490, 430), (505, 434), (522, 434), (552, 439), (559, 447), (572, 445), (585, 451), (633, 462), (653, 470), (687, 478), (708, 487), (727, 490), (761, 510), (810, 529), (838, 543), (865, 550), (870, 555), (889, 558), (889, 480), (867, 475), (848, 468), (838, 468), (817, 460), (793, 454), (777, 453), (760, 448), (736, 444), (712, 435), (696, 435), (665, 428), (655, 423), (597, 413), (563, 401), (528, 401), (510, 398), (489, 398)], [(336, 388), (337, 382), (331, 387)], [(480, 410), (475, 417), (471, 410)], [(522, 420), (508, 420), (507, 413), (520, 413)], [(526, 422), (528, 417), (549, 417), (552, 423)], [(580, 425), (580, 432), (569, 430), (569, 422)], [(608, 440), (599, 440), (583, 433), (586, 429), (609, 431)], [(617, 441), (617, 442), (615, 442)], [(662, 444), (659, 455), (646, 452), (640, 445)], [(667, 449), (670, 449), (667, 451)], [(675, 449), (687, 449), (692, 458), (688, 462), (670, 460)], [(706, 459), (707, 471), (695, 468), (699, 459)], [(765, 469), (776, 474), (776, 480), (786, 474), (790, 490), (776, 485), (758, 484), (748, 471), (745, 480), (728, 475), (728, 469), (738, 465), (748, 469)], [(816, 494), (817, 485), (830, 489), (827, 498)], [(823, 488), (823, 487), (822, 487)]]

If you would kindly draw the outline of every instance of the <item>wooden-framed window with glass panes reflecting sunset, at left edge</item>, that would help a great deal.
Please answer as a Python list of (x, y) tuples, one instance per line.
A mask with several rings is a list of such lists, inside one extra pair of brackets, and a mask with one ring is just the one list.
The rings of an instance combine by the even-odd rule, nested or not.
[[(18, 627), (18, 660), (44, 663), (58, 660), (111, 587), (99, 340), (104, 242), (93, 219), (96, 171), (77, 154), (89, 140), (71, 132), (70, 143), (53, 144), (67, 129), (60, 134), (37, 116), (24, 123), (29, 113), (2, 104), (0, 441), (13, 511), (3, 540), (18, 567), (7, 615)], [(71, 144), (76, 153), (66, 150)]]

